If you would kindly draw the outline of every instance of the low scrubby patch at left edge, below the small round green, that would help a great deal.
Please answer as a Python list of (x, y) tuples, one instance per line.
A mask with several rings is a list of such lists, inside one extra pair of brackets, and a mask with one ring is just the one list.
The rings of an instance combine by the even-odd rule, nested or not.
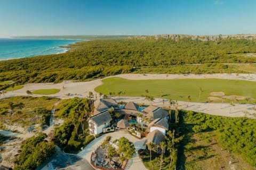
[(0, 126), (49, 125), (51, 110), (60, 99), (52, 97), (16, 96), (0, 100)]

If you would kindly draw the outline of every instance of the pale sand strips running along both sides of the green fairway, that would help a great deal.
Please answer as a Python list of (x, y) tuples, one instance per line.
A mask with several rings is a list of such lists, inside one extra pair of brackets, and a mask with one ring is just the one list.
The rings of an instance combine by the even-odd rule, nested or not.
[[(256, 81), (256, 74), (119, 74), (111, 77), (119, 77), (129, 80), (157, 80), (157, 79), (229, 79), (229, 80), (247, 80), (247, 81)], [(106, 77), (107, 79), (110, 77)], [(38, 89), (60, 89), (57, 94), (54, 95), (31, 95), (31, 96), (51, 96), (51, 97), (58, 97), (61, 99), (65, 98), (73, 98), (73, 97), (87, 97), (89, 91), (92, 91), (94, 94), (98, 94), (94, 91), (95, 87), (98, 87), (102, 84), (102, 79), (97, 79), (88, 82), (72, 82), (72, 81), (65, 81), (62, 83), (54, 84), (54, 83), (30, 83), (25, 84), (22, 89), (16, 91), (9, 91), (5, 94), (5, 97), (11, 96), (26, 96), (27, 90), (38, 90)], [(64, 87), (64, 88), (63, 88)], [(70, 94), (67, 96), (66, 94)], [(3, 97), (1, 97), (3, 98)], [(98, 94), (99, 98), (99, 94)], [(128, 99), (129, 98), (129, 99)], [(138, 98), (138, 103), (141, 103), (141, 98)], [(129, 101), (133, 100), (134, 97), (127, 97)], [(140, 100), (140, 101), (139, 101)], [(163, 99), (156, 99), (153, 105), (162, 106)], [(147, 101), (144, 101), (145, 103)], [(165, 102), (167, 104), (168, 101)], [(195, 112), (202, 112), (212, 115), (222, 115), (222, 116), (229, 116), (229, 117), (239, 117), (239, 116), (247, 116), (253, 117), (252, 114), (256, 113), (252, 108), (253, 105), (242, 105), (236, 104), (235, 109), (231, 108), (230, 112), (230, 104), (218, 104), (218, 103), (211, 103), (209, 106), (205, 103), (190, 103), (189, 107), (187, 107), (187, 102), (185, 101), (178, 101), (179, 109), (186, 109)], [(209, 107), (209, 108), (208, 108)], [(221, 109), (220, 109), (221, 108)]]

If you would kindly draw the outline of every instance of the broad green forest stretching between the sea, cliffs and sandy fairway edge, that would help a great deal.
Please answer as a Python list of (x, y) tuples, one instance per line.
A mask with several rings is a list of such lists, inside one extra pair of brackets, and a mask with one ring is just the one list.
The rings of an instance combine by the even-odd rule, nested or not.
[[(105, 39), (74, 44), (65, 54), (0, 61), (0, 81), (61, 82), (91, 80), (120, 73), (255, 73), (253, 40)], [(202, 65), (187, 65), (202, 64)], [(245, 69), (247, 66), (250, 69)]]

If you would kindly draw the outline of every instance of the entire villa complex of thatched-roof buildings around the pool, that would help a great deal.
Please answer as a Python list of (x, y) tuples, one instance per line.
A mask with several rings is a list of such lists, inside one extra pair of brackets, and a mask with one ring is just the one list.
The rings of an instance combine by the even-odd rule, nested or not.
[[(133, 124), (139, 123), (142, 127), (147, 129), (144, 135), (146, 136), (148, 133), (149, 137), (152, 134), (162, 137), (162, 135), (165, 135), (169, 129), (169, 124), (167, 122), (169, 113), (161, 107), (141, 107), (132, 101), (129, 101), (129, 103), (122, 107), (117, 107), (117, 105), (116, 100), (112, 98), (98, 99), (97, 101), (94, 101), (94, 114), (88, 121), (90, 133), (100, 134), (105, 132), (106, 128), (110, 127), (110, 122), (112, 121), (113, 125), (120, 129), (126, 129), (131, 122)], [(119, 117), (115, 120), (113, 120), (115, 117), (114, 114), (111, 113), (113, 114), (111, 116), (109, 113), (109, 109), (111, 108), (115, 110), (115, 113), (119, 113)], [(159, 135), (158, 133), (162, 133), (162, 135)], [(151, 141), (153, 140), (151, 138), (149, 139)]]

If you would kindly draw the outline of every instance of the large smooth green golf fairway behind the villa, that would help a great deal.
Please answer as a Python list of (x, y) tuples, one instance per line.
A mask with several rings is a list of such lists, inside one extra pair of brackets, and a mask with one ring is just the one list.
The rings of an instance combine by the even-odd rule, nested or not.
[[(174, 79), (174, 80), (126, 80), (122, 78), (109, 78), (102, 80), (103, 84), (94, 90), (109, 95), (109, 92), (126, 91), (126, 96), (148, 96), (187, 101), (199, 101), (199, 90), (202, 88), (200, 102), (207, 101), (212, 91), (223, 91), (226, 95), (241, 95), (256, 98), (256, 82), (244, 80), (223, 79)], [(221, 102), (221, 101), (220, 101)], [(226, 100), (227, 103), (230, 100)], [(245, 103), (245, 100), (241, 100)]]

